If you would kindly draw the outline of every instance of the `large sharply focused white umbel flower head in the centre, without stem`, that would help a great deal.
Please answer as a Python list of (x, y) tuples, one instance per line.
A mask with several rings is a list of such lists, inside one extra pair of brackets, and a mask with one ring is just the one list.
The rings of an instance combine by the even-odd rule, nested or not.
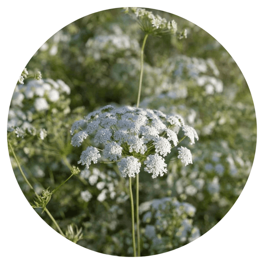
[[(118, 162), (123, 177), (135, 177), (142, 166), (153, 178), (167, 172), (166, 157), (178, 144), (178, 133), (190, 143), (198, 140), (194, 128), (184, 124), (177, 114), (132, 106), (104, 106), (73, 123), (71, 144), (81, 146), (89, 137), (88, 146), (78, 163), (87, 168), (99, 158)], [(190, 150), (179, 148), (178, 158), (187, 165), (192, 163)]]

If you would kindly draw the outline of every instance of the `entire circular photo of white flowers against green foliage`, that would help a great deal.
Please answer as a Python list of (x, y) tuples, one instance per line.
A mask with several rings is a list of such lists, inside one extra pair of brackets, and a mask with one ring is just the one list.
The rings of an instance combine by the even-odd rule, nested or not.
[(21, 73), (7, 126), (14, 174), (39, 216), (84, 248), (125, 257), (177, 249), (217, 224), (246, 184), (256, 134), (229, 53), (148, 8), (101, 11), (53, 35)]

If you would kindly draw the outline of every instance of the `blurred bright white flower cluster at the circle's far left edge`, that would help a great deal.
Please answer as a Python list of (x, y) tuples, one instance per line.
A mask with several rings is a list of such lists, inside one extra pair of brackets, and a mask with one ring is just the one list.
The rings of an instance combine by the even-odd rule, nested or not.
[[(24, 74), (23, 71), (22, 75)], [(61, 95), (70, 94), (70, 88), (63, 81), (52, 79), (30, 80), (26, 84), (19, 84), (15, 87), (10, 109), (8, 113), (7, 129), (15, 130), (17, 137), (23, 137), (25, 132), (32, 135), (39, 134), (41, 139), (47, 136), (47, 131), (41, 129), (36, 131), (32, 125), (34, 115), (38, 112), (56, 108), (61, 104)], [(69, 108), (65, 107), (64, 111)]]

